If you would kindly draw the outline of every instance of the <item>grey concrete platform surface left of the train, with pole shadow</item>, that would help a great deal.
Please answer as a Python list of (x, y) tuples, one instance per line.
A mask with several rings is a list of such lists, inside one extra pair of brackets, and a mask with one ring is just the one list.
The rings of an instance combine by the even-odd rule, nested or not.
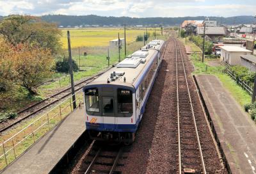
[(84, 107), (77, 108), (3, 173), (49, 173), (85, 131), (84, 118)]

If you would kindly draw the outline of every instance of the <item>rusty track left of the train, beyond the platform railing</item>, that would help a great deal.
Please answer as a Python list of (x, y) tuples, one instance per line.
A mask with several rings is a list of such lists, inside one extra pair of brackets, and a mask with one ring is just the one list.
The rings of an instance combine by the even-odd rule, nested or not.
[[(107, 69), (109, 70), (109, 68)], [(87, 79), (84, 79), (82, 81), (79, 81), (78, 83), (74, 84), (75, 86), (75, 91), (79, 91), (83, 88), (83, 86), (87, 83), (90, 83), (93, 81), (93, 79), (97, 78), (99, 75), (103, 74), (107, 70), (104, 70), (103, 72), (100, 72), (97, 75), (94, 75), (92, 77), (89, 77)], [(47, 97), (44, 100), (41, 100), (40, 102), (37, 102), (29, 107), (26, 107), (22, 111), (19, 111), (17, 113), (17, 118), (15, 119), (9, 119), (9, 120), (4, 120), (3, 122), (0, 123), (0, 133), (6, 131), (7, 129), (10, 129), (17, 123), (22, 122), (23, 120), (40, 113), (46, 109), (51, 108), (54, 106), (54, 104), (57, 104), (61, 100), (65, 99), (66, 97), (69, 97), (71, 95), (71, 87), (65, 88), (61, 91), (58, 91), (58, 93), (54, 93), (50, 97)]]

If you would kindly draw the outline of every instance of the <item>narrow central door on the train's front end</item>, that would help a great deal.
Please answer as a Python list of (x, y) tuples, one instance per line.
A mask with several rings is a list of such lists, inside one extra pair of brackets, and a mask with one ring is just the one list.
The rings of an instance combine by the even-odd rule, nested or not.
[(102, 88), (101, 106), (102, 123), (105, 131), (114, 131), (115, 120), (115, 96), (113, 88)]

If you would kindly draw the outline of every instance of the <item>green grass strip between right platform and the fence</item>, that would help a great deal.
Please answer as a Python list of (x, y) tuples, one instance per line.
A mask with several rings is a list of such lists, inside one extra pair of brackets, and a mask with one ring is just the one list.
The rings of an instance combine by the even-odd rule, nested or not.
[[(182, 42), (185, 43), (185, 40), (182, 39)], [(200, 49), (194, 43), (188, 42), (188, 40), (187, 45), (191, 46), (191, 48), (196, 51)], [(212, 59), (205, 59), (204, 63), (202, 63), (201, 56), (197, 53), (192, 54), (190, 58), (195, 67), (195, 71), (193, 72), (193, 74), (211, 74), (218, 77), (223, 86), (231, 93), (231, 95), (240, 104), (241, 107), (244, 107), (244, 104), (248, 104), (251, 102), (252, 97), (246, 91), (244, 91), (243, 88), (238, 86), (236, 81), (231, 79), (230, 76), (222, 73), (222, 70), (224, 69), (223, 65), (220, 65), (218, 67), (211, 67), (207, 65), (207, 62), (211, 61)]]

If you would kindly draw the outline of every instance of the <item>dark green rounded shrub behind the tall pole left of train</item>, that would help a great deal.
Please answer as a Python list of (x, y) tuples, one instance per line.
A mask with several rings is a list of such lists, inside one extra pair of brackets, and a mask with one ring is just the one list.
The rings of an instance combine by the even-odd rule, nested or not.
[[(72, 59), (72, 67), (74, 72), (77, 72), (79, 70), (76, 61)], [(65, 72), (68, 73), (69, 71), (69, 62), (68, 58), (63, 58), (62, 60), (56, 61), (55, 70), (57, 72)]]

